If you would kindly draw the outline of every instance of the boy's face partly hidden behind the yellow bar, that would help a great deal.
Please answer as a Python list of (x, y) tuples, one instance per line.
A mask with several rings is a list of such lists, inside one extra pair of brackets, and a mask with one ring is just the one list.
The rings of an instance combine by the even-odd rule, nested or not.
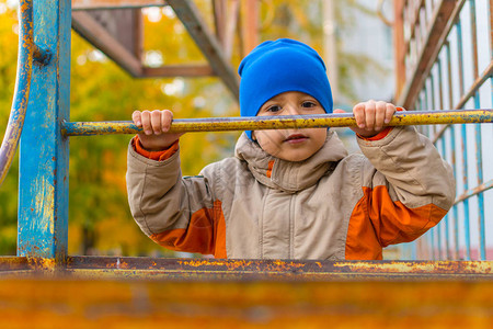
[[(325, 111), (312, 97), (287, 91), (265, 102), (257, 116), (323, 114)], [(326, 128), (255, 131), (252, 133), (267, 154), (287, 161), (302, 161), (314, 155), (325, 143)]]

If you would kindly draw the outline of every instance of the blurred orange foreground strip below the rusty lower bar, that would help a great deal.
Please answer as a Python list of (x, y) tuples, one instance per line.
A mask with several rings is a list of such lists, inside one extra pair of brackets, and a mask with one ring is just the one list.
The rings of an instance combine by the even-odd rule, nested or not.
[(492, 328), (493, 282), (0, 281), (1, 328)]

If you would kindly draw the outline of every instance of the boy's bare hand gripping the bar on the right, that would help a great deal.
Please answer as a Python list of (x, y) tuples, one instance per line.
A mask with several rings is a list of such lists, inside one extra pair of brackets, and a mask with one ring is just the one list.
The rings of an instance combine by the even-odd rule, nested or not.
[[(334, 113), (345, 113), (343, 110), (334, 110)], [(358, 103), (353, 107), (353, 114), (357, 127), (351, 127), (353, 132), (363, 137), (374, 137), (380, 133), (395, 113), (395, 105), (374, 100)]]

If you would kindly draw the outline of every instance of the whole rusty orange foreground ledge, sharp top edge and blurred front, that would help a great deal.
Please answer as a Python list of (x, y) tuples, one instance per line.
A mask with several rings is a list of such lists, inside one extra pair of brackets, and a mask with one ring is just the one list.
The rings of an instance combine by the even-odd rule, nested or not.
[(492, 328), (492, 262), (0, 258), (0, 328)]

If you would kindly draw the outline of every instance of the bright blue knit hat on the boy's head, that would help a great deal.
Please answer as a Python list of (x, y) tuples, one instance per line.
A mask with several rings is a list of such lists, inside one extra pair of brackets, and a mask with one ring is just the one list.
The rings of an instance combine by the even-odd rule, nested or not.
[[(256, 116), (262, 105), (286, 91), (305, 92), (332, 113), (332, 92), (325, 65), (310, 46), (290, 38), (256, 46), (240, 64), (241, 116)], [(252, 132), (246, 132), (252, 139)]]

